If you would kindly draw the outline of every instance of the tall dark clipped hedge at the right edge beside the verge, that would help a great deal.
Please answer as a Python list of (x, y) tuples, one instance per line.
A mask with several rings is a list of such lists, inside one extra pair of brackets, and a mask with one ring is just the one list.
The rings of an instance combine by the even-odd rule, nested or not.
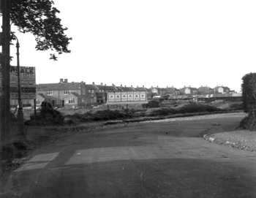
[(249, 73), (242, 77), (241, 84), (244, 112), (248, 117), (243, 121), (244, 128), (256, 130), (256, 73)]

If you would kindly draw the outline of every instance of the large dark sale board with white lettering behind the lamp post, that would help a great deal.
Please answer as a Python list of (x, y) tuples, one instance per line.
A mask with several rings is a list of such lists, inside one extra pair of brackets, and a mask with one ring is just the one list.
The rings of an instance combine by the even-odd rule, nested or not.
[[(1, 88), (1, 66), (0, 66)], [(34, 66), (20, 66), (21, 99), (36, 99), (36, 68)], [(10, 66), (10, 99), (18, 99), (18, 69)]]

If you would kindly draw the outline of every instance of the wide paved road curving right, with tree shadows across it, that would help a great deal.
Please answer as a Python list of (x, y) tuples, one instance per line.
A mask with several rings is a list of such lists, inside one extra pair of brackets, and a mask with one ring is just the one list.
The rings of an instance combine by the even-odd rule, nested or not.
[(241, 116), (74, 134), (33, 153), (4, 197), (256, 197), (256, 153), (208, 142)]

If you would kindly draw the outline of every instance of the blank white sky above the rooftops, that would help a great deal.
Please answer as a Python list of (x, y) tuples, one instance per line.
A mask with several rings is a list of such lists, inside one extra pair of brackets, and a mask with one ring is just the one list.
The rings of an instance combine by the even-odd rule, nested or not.
[(72, 37), (71, 53), (50, 60), (50, 51), (34, 48), (32, 34), (16, 34), (20, 65), (36, 67), (37, 84), (64, 78), (146, 88), (224, 85), (241, 92), (241, 78), (256, 72), (255, 0), (53, 1)]

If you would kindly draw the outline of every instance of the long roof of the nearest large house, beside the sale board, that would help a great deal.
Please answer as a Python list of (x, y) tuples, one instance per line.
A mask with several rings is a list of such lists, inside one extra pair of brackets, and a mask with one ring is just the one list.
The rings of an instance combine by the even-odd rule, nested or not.
[(74, 90), (80, 89), (81, 83), (48, 83), (38, 84), (37, 89), (39, 90)]

